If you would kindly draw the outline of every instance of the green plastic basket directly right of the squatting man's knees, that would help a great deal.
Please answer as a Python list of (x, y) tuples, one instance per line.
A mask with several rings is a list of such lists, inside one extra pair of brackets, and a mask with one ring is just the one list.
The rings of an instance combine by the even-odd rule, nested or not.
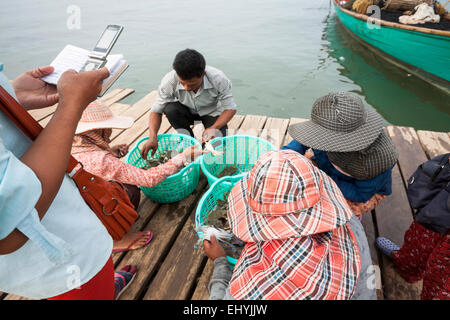
[(244, 135), (215, 138), (211, 140), (211, 145), (214, 150), (222, 153), (218, 156), (207, 153), (201, 157), (200, 165), (210, 186), (219, 180), (217, 176), (224, 168), (236, 166), (238, 172), (233, 176), (242, 178), (253, 168), (261, 155), (275, 150), (267, 140)]

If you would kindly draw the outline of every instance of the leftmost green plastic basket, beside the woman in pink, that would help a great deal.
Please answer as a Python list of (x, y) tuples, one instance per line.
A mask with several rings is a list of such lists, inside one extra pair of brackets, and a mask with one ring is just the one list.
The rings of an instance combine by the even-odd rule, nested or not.
[[(145, 167), (146, 161), (141, 156), (140, 145), (147, 139), (148, 137), (138, 141), (136, 146), (127, 154), (125, 159), (126, 163), (138, 168)], [(158, 158), (159, 155), (166, 150), (177, 150), (181, 152), (190, 146), (198, 144), (199, 142), (196, 139), (188, 135), (179, 133), (159, 134), (158, 150), (153, 157), (150, 156), (149, 152), (149, 157)], [(194, 161), (156, 186), (152, 188), (140, 188), (148, 198), (155, 202), (172, 203), (183, 200), (189, 196), (195, 188), (197, 188), (199, 177), (199, 161)]]

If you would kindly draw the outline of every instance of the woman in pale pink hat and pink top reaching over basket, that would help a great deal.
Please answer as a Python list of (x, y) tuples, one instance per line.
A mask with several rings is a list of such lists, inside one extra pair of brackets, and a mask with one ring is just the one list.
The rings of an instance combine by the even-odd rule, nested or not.
[[(133, 125), (130, 117), (117, 116), (107, 105), (96, 100), (84, 110), (75, 131), (72, 155), (83, 164), (86, 171), (107, 180), (122, 183), (131, 202), (137, 209), (140, 191), (137, 186), (154, 187), (170, 175), (178, 172), (184, 164), (201, 151), (188, 148), (167, 163), (148, 170), (126, 164), (120, 160), (128, 152), (128, 145), (110, 146), (112, 129), (127, 129)], [(150, 230), (129, 232), (123, 239), (114, 241), (113, 252), (142, 248), (152, 239)]]

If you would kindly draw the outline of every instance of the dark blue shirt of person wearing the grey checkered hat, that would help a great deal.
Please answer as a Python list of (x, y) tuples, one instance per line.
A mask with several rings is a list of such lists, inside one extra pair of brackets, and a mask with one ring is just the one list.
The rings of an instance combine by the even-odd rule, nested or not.
[[(302, 145), (296, 140), (292, 140), (285, 145), (282, 150), (291, 149), (305, 154), (308, 147)], [(328, 159), (325, 151), (312, 149), (314, 157), (319, 169), (325, 172), (330, 178), (336, 182), (339, 189), (341, 189), (344, 198), (356, 202), (366, 202), (375, 194), (390, 195), (392, 193), (392, 168), (386, 170), (375, 178), (368, 180), (357, 180), (353, 177), (347, 176), (337, 170), (335, 166)]]

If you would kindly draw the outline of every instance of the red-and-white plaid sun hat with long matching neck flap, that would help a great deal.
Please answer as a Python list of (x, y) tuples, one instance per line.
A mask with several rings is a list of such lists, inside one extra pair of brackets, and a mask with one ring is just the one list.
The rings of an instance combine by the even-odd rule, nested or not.
[(292, 150), (263, 155), (228, 196), (228, 221), (247, 242), (234, 268), (235, 299), (349, 299), (361, 270), (337, 185)]

